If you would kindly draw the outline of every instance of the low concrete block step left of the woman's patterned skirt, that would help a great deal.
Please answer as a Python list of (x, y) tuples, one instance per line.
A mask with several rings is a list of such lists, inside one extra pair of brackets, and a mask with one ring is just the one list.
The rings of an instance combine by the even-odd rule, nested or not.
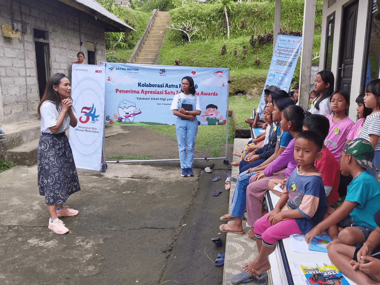
[(21, 146), (9, 149), (6, 153), (6, 160), (11, 163), (17, 162), (19, 165), (33, 165), (37, 162), (38, 142), (40, 139), (29, 141)]

